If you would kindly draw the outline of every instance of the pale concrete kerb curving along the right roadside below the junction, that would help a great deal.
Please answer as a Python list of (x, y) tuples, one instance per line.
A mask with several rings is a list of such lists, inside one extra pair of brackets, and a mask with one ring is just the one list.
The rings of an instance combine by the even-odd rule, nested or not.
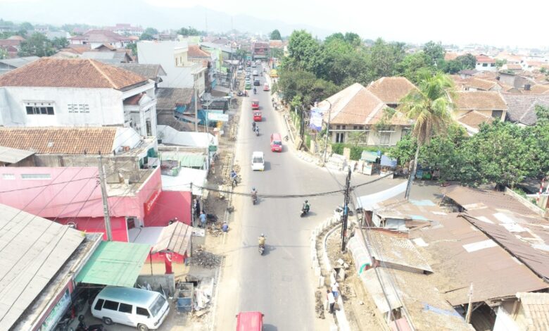
[[(322, 275), (322, 268), (318, 261), (319, 251), (317, 251), (316, 246), (318, 244), (319, 236), (322, 235), (326, 230), (328, 230), (324, 235), (322, 235), (322, 264), (324, 268), (330, 275), (330, 283), (334, 282), (334, 273), (332, 273), (332, 265), (328, 258), (327, 253), (327, 241), (328, 237), (332, 235), (336, 230), (341, 227), (341, 221), (336, 220), (333, 217), (327, 218), (324, 222), (320, 223), (311, 231), (311, 268), (315, 270), (315, 276), (318, 279), (317, 288), (325, 287), (325, 277)], [(330, 330), (340, 330), (340, 331), (351, 331), (351, 326), (348, 323), (347, 316), (345, 315), (345, 310), (343, 308), (343, 300), (341, 295), (337, 298), (337, 304), (339, 305), (339, 311), (336, 311), (336, 320), (339, 327), (330, 327)]]

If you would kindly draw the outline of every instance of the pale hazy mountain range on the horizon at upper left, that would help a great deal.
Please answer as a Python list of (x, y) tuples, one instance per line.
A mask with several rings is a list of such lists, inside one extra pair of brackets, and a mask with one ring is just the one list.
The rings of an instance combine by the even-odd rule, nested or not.
[[(32, 24), (63, 25), (65, 23), (87, 23), (108, 26), (115, 23), (131, 23), (142, 27), (179, 29), (196, 27), (198, 30), (225, 32), (232, 28), (241, 32), (268, 34), (278, 29), (283, 36), (293, 30), (305, 29), (320, 38), (332, 32), (320, 27), (301, 24), (287, 24), (278, 20), (263, 20), (249, 15), (231, 16), (205, 7), (165, 8), (147, 4), (144, 1), (7, 1), (2, 2), (0, 18)], [(44, 13), (48, 13), (44, 15)]]

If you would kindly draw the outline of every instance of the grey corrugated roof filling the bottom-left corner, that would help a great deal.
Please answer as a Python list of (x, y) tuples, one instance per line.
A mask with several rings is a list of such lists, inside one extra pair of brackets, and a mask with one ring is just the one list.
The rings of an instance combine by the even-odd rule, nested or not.
[(34, 303), (83, 240), (68, 225), (0, 204), (0, 329)]

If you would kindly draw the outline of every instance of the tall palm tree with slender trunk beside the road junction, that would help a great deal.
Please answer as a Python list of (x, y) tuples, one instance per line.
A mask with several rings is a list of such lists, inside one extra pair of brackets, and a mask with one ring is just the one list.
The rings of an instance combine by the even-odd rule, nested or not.
[(419, 74), (419, 89), (411, 91), (400, 101), (398, 110), (407, 118), (415, 121), (412, 136), (417, 140), (417, 148), (412, 163), (412, 171), (408, 178), (405, 199), (410, 197), (412, 182), (417, 170), (417, 157), (419, 148), (429, 144), (431, 137), (446, 132), (446, 127), (451, 121), (451, 111), (454, 108), (453, 81), (443, 73), (431, 73), (425, 71)]

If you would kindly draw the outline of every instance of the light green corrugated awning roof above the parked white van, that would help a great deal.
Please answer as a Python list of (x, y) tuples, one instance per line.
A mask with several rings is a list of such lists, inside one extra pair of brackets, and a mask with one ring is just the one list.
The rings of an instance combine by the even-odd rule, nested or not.
[(147, 244), (101, 242), (76, 282), (133, 287), (151, 251)]

